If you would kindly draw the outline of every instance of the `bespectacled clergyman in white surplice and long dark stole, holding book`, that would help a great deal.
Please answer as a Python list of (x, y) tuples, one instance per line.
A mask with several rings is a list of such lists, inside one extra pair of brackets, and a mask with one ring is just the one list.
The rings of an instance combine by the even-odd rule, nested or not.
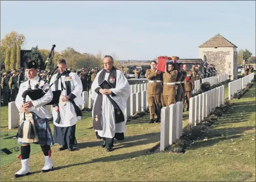
[(114, 138), (124, 140), (124, 110), (130, 96), (130, 85), (123, 73), (113, 66), (112, 56), (106, 55), (103, 64), (104, 69), (92, 84), (93, 128), (97, 139), (104, 141), (101, 146), (110, 152), (113, 151)]

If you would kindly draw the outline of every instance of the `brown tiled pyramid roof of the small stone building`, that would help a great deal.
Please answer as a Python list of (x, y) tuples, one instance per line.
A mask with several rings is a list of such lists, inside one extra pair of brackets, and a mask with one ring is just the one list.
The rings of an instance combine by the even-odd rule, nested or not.
[(218, 47), (235, 47), (236, 45), (222, 37), (220, 34), (215, 35), (214, 37), (211, 37), (209, 40), (204, 42), (203, 44), (199, 45), (199, 48), (218, 48)]

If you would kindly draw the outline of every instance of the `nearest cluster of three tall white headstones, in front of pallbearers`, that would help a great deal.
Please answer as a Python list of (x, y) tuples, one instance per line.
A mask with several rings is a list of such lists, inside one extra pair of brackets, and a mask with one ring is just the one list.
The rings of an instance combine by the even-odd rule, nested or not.
[(161, 109), (160, 151), (182, 136), (183, 103), (177, 102)]

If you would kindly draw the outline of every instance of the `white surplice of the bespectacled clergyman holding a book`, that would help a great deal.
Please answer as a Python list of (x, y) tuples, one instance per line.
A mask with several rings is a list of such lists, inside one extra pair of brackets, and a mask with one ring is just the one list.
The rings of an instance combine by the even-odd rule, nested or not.
[[(94, 100), (94, 104), (98, 97), (98, 94), (95, 92), (95, 89), (99, 87), (98, 78), (101, 72), (102, 71), (100, 71), (97, 74), (96, 78), (92, 83), (91, 99)], [(105, 80), (108, 81), (108, 78), (109, 73), (105, 73)], [(111, 91), (112, 93), (116, 94), (116, 96), (110, 95), (110, 97), (117, 103), (117, 105), (124, 113), (124, 110), (126, 108), (126, 101), (130, 96), (130, 85), (120, 70), (116, 71), (116, 88), (111, 88)], [(124, 122), (116, 124), (114, 106), (111, 104), (110, 100), (108, 99), (108, 97), (106, 97), (106, 95), (102, 96), (103, 98), (101, 105), (100, 121), (101, 126), (103, 126), (103, 129), (95, 131), (98, 132), (98, 135), (100, 137), (114, 138), (115, 133), (125, 132), (126, 116), (124, 115)], [(92, 115), (94, 116), (94, 113), (92, 113)]]

